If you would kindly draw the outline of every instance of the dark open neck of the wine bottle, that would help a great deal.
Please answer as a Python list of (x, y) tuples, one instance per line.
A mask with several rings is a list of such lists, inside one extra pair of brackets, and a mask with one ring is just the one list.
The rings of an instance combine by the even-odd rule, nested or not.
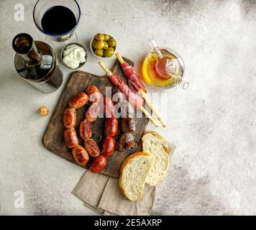
[(17, 55), (22, 57), (25, 63), (29, 65), (37, 65), (41, 63), (42, 55), (38, 52), (35, 41), (30, 35), (25, 33), (14, 37), (12, 47), (17, 52)]

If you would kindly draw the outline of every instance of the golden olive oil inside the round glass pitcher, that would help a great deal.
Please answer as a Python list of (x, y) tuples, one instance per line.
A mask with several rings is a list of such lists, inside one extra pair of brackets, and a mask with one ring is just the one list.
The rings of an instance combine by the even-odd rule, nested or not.
[[(160, 49), (165, 60), (170, 60), (173, 65), (173, 72), (163, 73), (165, 68), (161, 65), (157, 65), (160, 61), (160, 57), (157, 55), (155, 50), (152, 50), (145, 58), (142, 64), (142, 77), (145, 79), (146, 83), (151, 86), (156, 87), (173, 87), (182, 81), (182, 76), (184, 73), (184, 63), (181, 57), (174, 55), (173, 52), (169, 52), (166, 49)], [(161, 68), (161, 69), (160, 69)]]

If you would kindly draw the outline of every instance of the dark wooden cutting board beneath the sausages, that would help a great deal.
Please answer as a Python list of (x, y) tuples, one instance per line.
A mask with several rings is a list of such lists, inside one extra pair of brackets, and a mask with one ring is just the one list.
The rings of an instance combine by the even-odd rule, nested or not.
[[(134, 65), (131, 60), (128, 60), (124, 57), (124, 60), (129, 63), (130, 65)], [(99, 67), (100, 68), (100, 67)], [(122, 72), (122, 68), (119, 65), (119, 62), (116, 60), (113, 67), (111, 68), (111, 71), (119, 75), (121, 78), (123, 78), (125, 81), (127, 81), (127, 78), (124, 76), (124, 73)], [(78, 165), (75, 160), (73, 160), (73, 156), (71, 154), (71, 149), (68, 149), (65, 145), (63, 132), (64, 132), (64, 126), (63, 126), (63, 113), (65, 109), (68, 108), (68, 101), (70, 98), (76, 93), (80, 91), (84, 91), (86, 86), (96, 86), (99, 88), (101, 93), (105, 96), (105, 88), (106, 86), (112, 87), (112, 92), (116, 92), (117, 89), (114, 87), (107, 76), (97, 76), (93, 75), (91, 73), (86, 73), (83, 71), (75, 71), (70, 74), (67, 83), (65, 84), (65, 87), (63, 89), (63, 92), (60, 95), (59, 101), (57, 105), (55, 106), (55, 110), (53, 111), (52, 117), (50, 119), (50, 122), (47, 126), (47, 129), (45, 131), (45, 134), (42, 137), (42, 142), (45, 145), (47, 149), (49, 149), (51, 152), (53, 152), (55, 155), (58, 155), (59, 157), (63, 157), (65, 160), (68, 160), (70, 162), (73, 162), (74, 164)], [(77, 121), (76, 121), (76, 133), (78, 134), (79, 138), (79, 144), (83, 146), (83, 141), (79, 137), (79, 124), (84, 119), (84, 114), (86, 113), (86, 110), (88, 109), (88, 106), (90, 103), (88, 103), (86, 106), (83, 106), (81, 109), (77, 110)], [(138, 151), (140, 149), (140, 138), (142, 137), (142, 134), (145, 132), (145, 128), (148, 124), (148, 119), (143, 114), (142, 118), (135, 118), (136, 122), (136, 132), (134, 133), (134, 141), (137, 142), (138, 148), (137, 149), (127, 149), (124, 152), (116, 151), (109, 157), (108, 163), (104, 170), (101, 172), (101, 174), (108, 175), (113, 178), (119, 178), (119, 169), (122, 165), (122, 162), (125, 158), (127, 158), (132, 153)], [(101, 147), (101, 142), (104, 138), (104, 122), (105, 119), (97, 119), (92, 124), (92, 131), (93, 136), (92, 138), (99, 143), (99, 147)], [(120, 123), (120, 119), (119, 119)], [(120, 127), (120, 126), (119, 126)], [(116, 135), (116, 140), (120, 137), (121, 132)], [(81, 166), (88, 168), (88, 165), (90, 164), (91, 160), (93, 158), (91, 157), (90, 161), (86, 166)]]

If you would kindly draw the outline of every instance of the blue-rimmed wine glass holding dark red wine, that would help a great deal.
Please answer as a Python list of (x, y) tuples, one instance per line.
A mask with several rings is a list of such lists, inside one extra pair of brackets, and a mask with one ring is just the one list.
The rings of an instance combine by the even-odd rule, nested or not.
[(35, 25), (55, 47), (78, 41), (75, 29), (80, 17), (76, 0), (38, 0), (33, 11)]

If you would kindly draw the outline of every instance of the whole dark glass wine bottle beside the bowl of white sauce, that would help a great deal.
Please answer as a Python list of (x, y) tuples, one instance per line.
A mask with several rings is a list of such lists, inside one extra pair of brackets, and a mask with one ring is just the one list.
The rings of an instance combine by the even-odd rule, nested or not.
[(15, 68), (24, 80), (43, 93), (51, 93), (61, 86), (63, 73), (49, 45), (21, 33), (14, 37), (12, 47), (16, 52)]

